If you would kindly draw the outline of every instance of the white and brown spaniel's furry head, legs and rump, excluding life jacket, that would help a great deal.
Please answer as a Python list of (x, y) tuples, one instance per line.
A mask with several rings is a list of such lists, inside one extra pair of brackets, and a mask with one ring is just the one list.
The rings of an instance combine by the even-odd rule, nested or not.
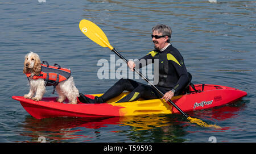
[[(25, 56), (23, 73), (31, 73), (32, 76), (38, 76), (41, 72), (41, 61), (38, 54), (30, 52)], [(40, 101), (46, 93), (46, 83), (43, 78), (33, 79), (29, 78), (30, 91), (24, 95), (24, 98), (32, 99), (34, 101)], [(70, 76), (67, 80), (59, 82), (56, 85), (56, 91), (59, 97), (56, 99), (57, 102), (62, 103), (68, 98), (69, 103), (76, 104), (77, 97), (79, 97), (79, 90), (75, 86), (73, 77)], [(33, 97), (35, 95), (35, 97)]]

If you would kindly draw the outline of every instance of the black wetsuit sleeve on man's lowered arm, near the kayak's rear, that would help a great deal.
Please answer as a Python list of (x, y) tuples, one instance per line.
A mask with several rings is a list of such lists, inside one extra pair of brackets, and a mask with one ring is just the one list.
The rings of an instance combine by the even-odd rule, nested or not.
[[(173, 57), (168, 57), (167, 55), (167, 59), (172, 59)], [(179, 76), (179, 80), (177, 81), (177, 83), (174, 85), (174, 90), (176, 91), (176, 93), (179, 93), (180, 90), (183, 90), (184, 86), (187, 85), (188, 82), (188, 72), (187, 69), (185, 67), (185, 64), (183, 62), (183, 57), (181, 57), (181, 55), (176, 55), (175, 57), (176, 61), (174, 61), (173, 65), (174, 68), (177, 72), (177, 75)]]

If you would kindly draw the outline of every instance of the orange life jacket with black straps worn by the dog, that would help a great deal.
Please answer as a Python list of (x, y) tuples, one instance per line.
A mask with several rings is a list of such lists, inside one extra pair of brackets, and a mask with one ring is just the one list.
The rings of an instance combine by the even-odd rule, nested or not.
[[(46, 63), (47, 65), (45, 65), (44, 63)], [(29, 78), (32, 78), (34, 80), (43, 78), (46, 82), (46, 86), (54, 87), (52, 92), (54, 93), (56, 85), (58, 85), (61, 81), (68, 80), (68, 78), (71, 76), (71, 70), (67, 68), (61, 68), (58, 64), (50, 66), (47, 61), (43, 61), (43, 63), (41, 64), (41, 72), (39, 73), (39, 75), (26, 73), (26, 76), (28, 78), (28, 81)]]

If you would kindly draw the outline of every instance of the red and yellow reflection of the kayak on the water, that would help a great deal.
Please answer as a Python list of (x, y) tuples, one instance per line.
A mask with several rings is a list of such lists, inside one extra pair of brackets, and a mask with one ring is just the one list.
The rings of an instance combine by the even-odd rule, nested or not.
[[(245, 103), (225, 105), (215, 109), (196, 111), (189, 113), (191, 116), (217, 122), (238, 117)], [(199, 116), (200, 115), (200, 116)], [(21, 124), (24, 132), (20, 135), (29, 136), (26, 142), (37, 142), (40, 136), (46, 138), (47, 142), (98, 142), (105, 135), (123, 136), (129, 142), (183, 142), (183, 136), (194, 131), (185, 130), (189, 126), (197, 127), (189, 123), (180, 114), (170, 115), (143, 115), (123, 116), (112, 118), (47, 118), (35, 119), (26, 116)], [(20, 127), (20, 126), (19, 126)], [(108, 127), (108, 131), (104, 128)], [(122, 127), (122, 130), (120, 130)], [(202, 131), (223, 132), (236, 130), (237, 127), (222, 127), (220, 130), (207, 128)], [(199, 130), (195, 132), (200, 132)], [(84, 135), (86, 134), (86, 135)], [(115, 135), (113, 135), (115, 134)], [(104, 141), (104, 139), (102, 139)]]

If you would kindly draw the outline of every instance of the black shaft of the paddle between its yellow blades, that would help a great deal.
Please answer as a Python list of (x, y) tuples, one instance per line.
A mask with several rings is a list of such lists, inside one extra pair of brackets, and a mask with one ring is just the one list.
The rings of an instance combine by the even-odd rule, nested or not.
[[(114, 53), (115, 53), (119, 58), (121, 58), (123, 61), (125, 61), (126, 63), (128, 63), (128, 61), (125, 59), (125, 57), (123, 57), (122, 55), (120, 55), (120, 53), (117, 52), (117, 51), (115, 50), (115, 48), (112, 49), (112, 52), (114, 52)], [(134, 68), (134, 71), (137, 72), (137, 73), (139, 74), (139, 76), (141, 76), (145, 81), (147, 81), (147, 82), (148, 82), (156, 91), (158, 91), (158, 93), (159, 93), (160, 95), (162, 95), (162, 97), (163, 97), (164, 94), (162, 93), (162, 91), (160, 91), (158, 88), (156, 88), (156, 86), (154, 86), (154, 85), (152, 84), (152, 82), (151, 82), (150, 80), (148, 80), (147, 77), (143, 76), (143, 74), (142, 74), (141, 72), (139, 72), (139, 70), (137, 70), (137, 69), (135, 69), (135, 68)], [(188, 118), (188, 115), (185, 114), (179, 107), (177, 107), (177, 106), (175, 105), (175, 103), (171, 101), (171, 99), (169, 99), (168, 101), (169, 101), (181, 114), (183, 114), (183, 116), (185, 116), (186, 118)]]

